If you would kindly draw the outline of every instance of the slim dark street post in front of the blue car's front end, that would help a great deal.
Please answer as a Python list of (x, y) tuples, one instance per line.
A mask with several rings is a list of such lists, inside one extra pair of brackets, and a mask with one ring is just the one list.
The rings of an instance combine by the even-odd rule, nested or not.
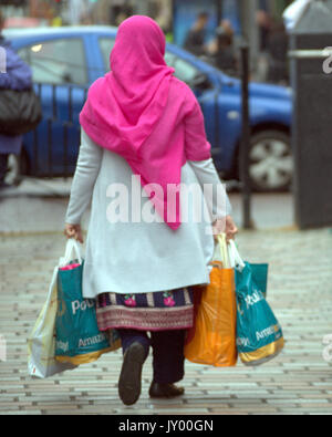
[(250, 50), (248, 42), (241, 44), (241, 80), (242, 80), (242, 133), (240, 146), (240, 180), (242, 188), (243, 228), (252, 229), (251, 221), (251, 187), (250, 187), (250, 114), (249, 114), (249, 76)]

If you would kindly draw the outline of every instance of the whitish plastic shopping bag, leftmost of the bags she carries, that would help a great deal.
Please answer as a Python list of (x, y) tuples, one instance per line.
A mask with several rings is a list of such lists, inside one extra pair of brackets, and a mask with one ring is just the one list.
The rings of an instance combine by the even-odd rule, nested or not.
[(30, 376), (46, 378), (76, 366), (55, 360), (55, 318), (58, 308), (56, 266), (53, 270), (46, 301), (28, 339), (28, 373)]

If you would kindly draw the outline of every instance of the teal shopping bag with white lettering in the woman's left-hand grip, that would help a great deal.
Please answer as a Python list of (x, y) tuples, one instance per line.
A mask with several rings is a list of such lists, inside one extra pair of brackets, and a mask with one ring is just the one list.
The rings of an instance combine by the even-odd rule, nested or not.
[[(73, 259), (72, 251), (76, 257)], [(58, 272), (58, 313), (55, 357), (74, 365), (92, 363), (105, 352), (121, 347), (116, 331), (111, 336), (97, 326), (95, 300), (82, 295), (84, 260), (74, 239), (68, 241)]]

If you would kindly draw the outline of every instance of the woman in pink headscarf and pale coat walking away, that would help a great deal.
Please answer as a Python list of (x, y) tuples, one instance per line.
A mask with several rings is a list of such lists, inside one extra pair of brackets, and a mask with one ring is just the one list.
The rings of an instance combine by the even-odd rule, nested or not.
[[(209, 282), (211, 223), (220, 228), (226, 219), (228, 238), (237, 232), (229, 204), (220, 201), (226, 193), (198, 102), (164, 54), (165, 37), (148, 17), (118, 28), (111, 72), (91, 86), (81, 113), (65, 217), (65, 235), (83, 242), (80, 223), (92, 198), (83, 295), (96, 299), (100, 329), (121, 335), (118, 393), (126, 405), (139, 397), (151, 346), (151, 397), (184, 393), (174, 384), (184, 377), (193, 285)], [(218, 188), (219, 202), (205, 199), (204, 184)], [(195, 196), (185, 197), (193, 185)], [(207, 219), (197, 219), (200, 209)]]

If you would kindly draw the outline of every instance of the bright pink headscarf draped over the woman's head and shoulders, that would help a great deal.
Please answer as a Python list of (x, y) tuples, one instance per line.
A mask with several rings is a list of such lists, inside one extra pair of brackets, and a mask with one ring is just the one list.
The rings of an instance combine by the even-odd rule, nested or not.
[[(176, 187), (181, 166), (186, 159), (209, 158), (210, 145), (194, 94), (173, 76), (174, 69), (164, 60), (165, 46), (165, 35), (154, 20), (143, 15), (125, 20), (111, 53), (111, 72), (90, 87), (80, 123), (96, 144), (127, 160), (156, 211), (172, 229), (177, 229), (180, 214)], [(191, 136), (196, 135), (194, 142), (199, 146), (189, 145), (188, 157), (179, 126), (195, 111), (200, 126), (191, 126)], [(158, 184), (163, 193), (152, 189), (151, 184)]]

